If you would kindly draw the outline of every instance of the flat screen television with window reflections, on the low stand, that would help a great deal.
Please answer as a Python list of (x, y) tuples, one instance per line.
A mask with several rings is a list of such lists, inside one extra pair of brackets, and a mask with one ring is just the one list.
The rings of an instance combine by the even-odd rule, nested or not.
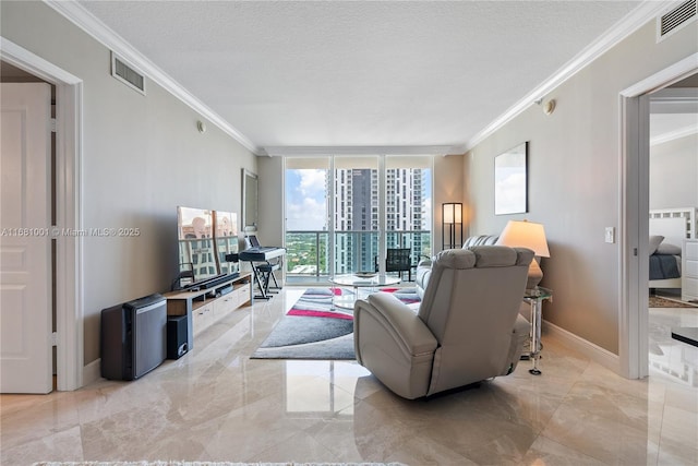
[(177, 207), (179, 275), (177, 288), (189, 288), (238, 272), (226, 254), (238, 252), (238, 217), (232, 212)]

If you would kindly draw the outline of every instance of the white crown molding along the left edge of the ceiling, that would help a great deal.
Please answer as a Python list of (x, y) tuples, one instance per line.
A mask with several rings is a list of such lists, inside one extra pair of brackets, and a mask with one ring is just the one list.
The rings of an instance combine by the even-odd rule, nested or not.
[(248, 151), (255, 155), (260, 154), (261, 148), (252, 141), (190, 93), (184, 86), (174, 81), (165, 71), (160, 70), (147, 57), (136, 50), (123, 37), (109, 28), (109, 26), (85, 10), (85, 8), (75, 0), (44, 0), (44, 3), (56, 10), (59, 14), (83, 29), (98, 43), (117, 52), (119, 58), (122, 58), (129, 65), (145, 74), (148, 79), (153, 80), (156, 84), (165, 88), (182, 103), (201, 113), (203, 118), (220, 128), (220, 130), (242, 144)]

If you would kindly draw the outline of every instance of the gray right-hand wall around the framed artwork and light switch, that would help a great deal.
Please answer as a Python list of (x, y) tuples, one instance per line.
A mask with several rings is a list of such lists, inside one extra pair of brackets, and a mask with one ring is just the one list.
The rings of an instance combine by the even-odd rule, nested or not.
[[(533, 105), (467, 154), (471, 234), (500, 232), (509, 219), (544, 224), (542, 285), (555, 294), (544, 319), (616, 355), (619, 248), (604, 242), (604, 227), (621, 222), (619, 92), (696, 51), (696, 27), (657, 44), (652, 21), (551, 92), (553, 115)], [(494, 157), (524, 141), (529, 213), (495, 216)]]

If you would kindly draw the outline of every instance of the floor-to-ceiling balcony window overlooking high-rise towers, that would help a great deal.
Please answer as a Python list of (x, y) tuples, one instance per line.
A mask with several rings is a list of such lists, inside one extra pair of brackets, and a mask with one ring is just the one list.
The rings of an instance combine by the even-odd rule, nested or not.
[(431, 255), (431, 156), (287, 157), (287, 280), (383, 271), (388, 248)]

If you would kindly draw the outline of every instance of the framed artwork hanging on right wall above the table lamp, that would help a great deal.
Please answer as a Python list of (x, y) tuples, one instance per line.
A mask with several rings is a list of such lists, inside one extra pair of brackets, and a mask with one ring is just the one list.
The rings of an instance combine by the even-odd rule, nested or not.
[(528, 212), (528, 142), (494, 158), (494, 215)]

